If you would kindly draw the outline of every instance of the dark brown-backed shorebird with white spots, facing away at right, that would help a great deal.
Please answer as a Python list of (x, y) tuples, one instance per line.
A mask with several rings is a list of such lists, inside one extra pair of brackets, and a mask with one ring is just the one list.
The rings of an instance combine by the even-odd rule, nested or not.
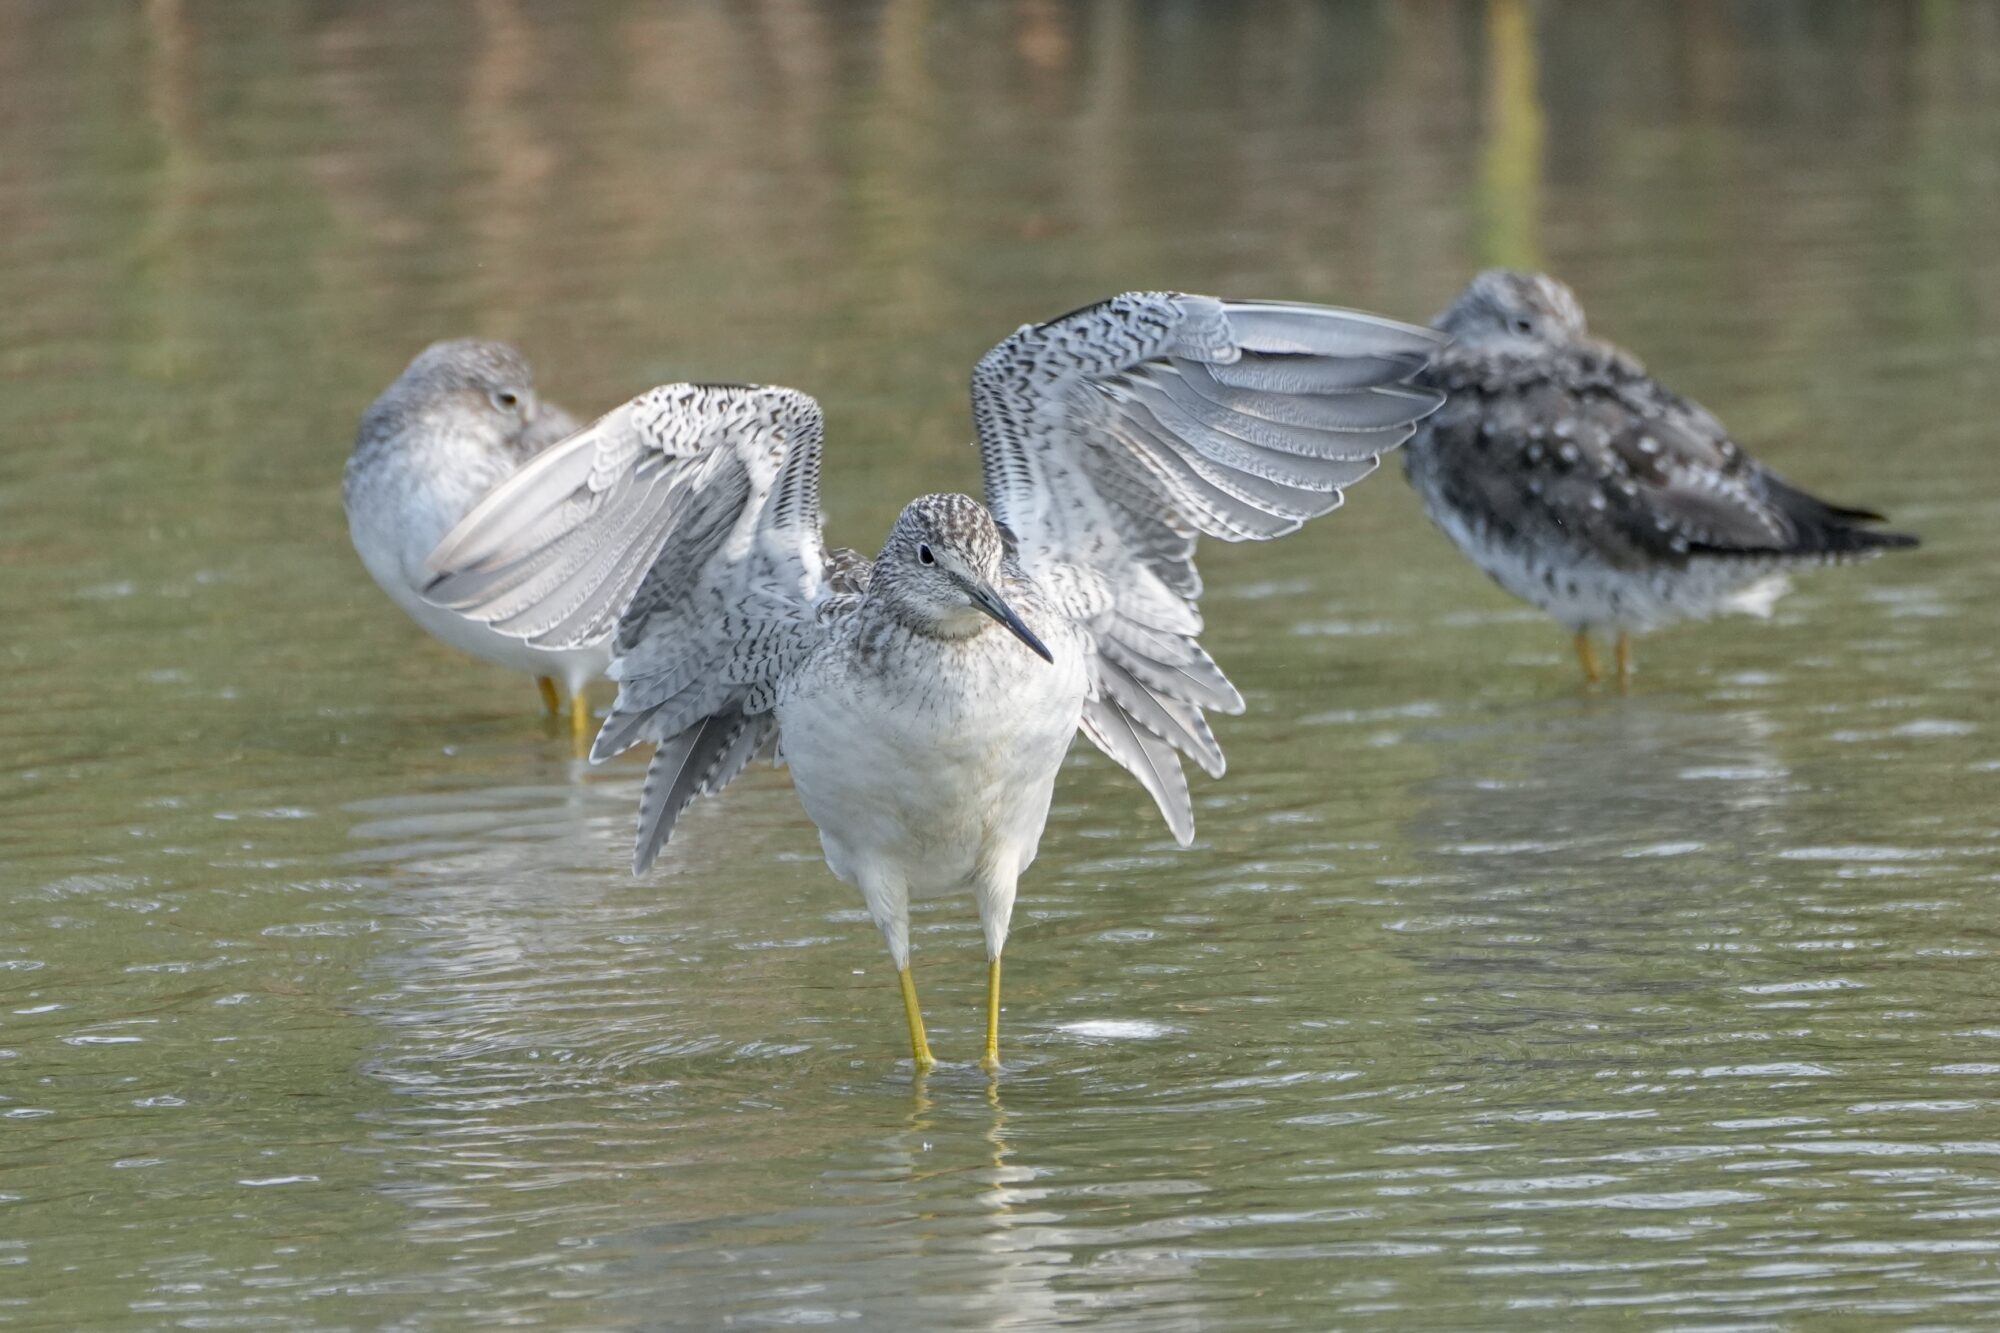
[(1866, 508), (1816, 500), (1746, 454), (1702, 406), (1584, 330), (1544, 274), (1488, 270), (1436, 326), (1452, 336), (1420, 378), (1446, 404), (1402, 462), (1432, 520), (1494, 582), (1576, 634), (1632, 634), (1722, 610), (1768, 616), (1786, 574), (1914, 536)]

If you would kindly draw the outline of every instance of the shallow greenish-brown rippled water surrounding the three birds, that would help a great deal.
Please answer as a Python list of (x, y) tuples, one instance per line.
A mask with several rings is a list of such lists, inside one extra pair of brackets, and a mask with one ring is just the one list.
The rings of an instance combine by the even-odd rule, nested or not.
[[(0, 1325), (1968, 1327), (2000, 1315), (2000, 14), (14, 4)], [(946, 1067), (782, 773), (636, 767), (346, 542), (426, 340), (792, 382), (836, 540), (1128, 286), (1484, 262), (1926, 546), (1632, 697), (1394, 470), (1210, 550), (1200, 841), (1082, 749)]]

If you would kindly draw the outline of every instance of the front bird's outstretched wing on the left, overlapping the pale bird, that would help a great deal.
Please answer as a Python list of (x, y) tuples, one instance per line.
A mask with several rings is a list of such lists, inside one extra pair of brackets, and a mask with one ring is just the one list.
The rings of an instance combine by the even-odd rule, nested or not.
[(590, 755), (660, 747), (634, 873), (770, 743), (772, 691), (840, 592), (822, 434), (820, 404), (790, 388), (666, 384), (538, 454), (430, 556), (430, 600), (528, 642), (616, 626), (618, 703)]

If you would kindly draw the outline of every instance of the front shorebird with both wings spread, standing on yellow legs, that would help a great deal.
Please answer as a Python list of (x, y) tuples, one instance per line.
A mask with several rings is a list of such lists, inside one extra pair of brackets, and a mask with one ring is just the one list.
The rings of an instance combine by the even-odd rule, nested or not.
[(616, 624), (592, 759), (658, 747), (634, 871), (776, 741), (828, 867), (882, 929), (920, 1069), (908, 901), (970, 891), (992, 1069), (1016, 881), (1076, 733), (1182, 845), (1180, 757), (1222, 773), (1202, 711), (1242, 697), (1196, 642), (1196, 536), (1262, 540), (1336, 508), (1436, 408), (1402, 382), (1438, 342), (1170, 292), (1026, 326), (972, 374), (986, 504), (912, 500), (872, 562), (820, 538), (812, 398), (670, 384), (494, 492), (440, 544), (430, 596), (530, 642)]

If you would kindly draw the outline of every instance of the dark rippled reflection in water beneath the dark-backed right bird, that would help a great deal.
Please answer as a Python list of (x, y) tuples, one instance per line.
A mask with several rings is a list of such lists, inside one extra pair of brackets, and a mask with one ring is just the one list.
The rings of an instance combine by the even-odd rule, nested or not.
[(1422, 873), (1396, 927), (1450, 977), (1444, 1031), (1616, 1031), (1772, 911), (1752, 853), (1798, 783), (1754, 707), (1572, 699), (1458, 729), (1452, 757), (1408, 829)]

